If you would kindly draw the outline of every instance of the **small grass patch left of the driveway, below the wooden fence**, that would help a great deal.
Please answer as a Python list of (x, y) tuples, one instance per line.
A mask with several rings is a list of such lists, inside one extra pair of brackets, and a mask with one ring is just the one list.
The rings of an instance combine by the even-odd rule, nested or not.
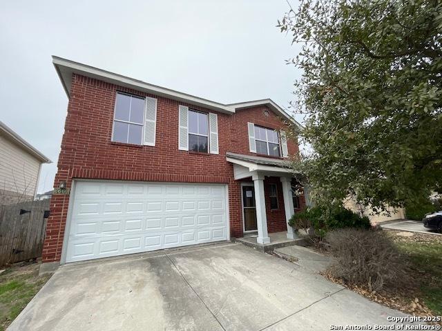
[(20, 314), (49, 277), (39, 277), (39, 263), (13, 265), (0, 274), (0, 331)]

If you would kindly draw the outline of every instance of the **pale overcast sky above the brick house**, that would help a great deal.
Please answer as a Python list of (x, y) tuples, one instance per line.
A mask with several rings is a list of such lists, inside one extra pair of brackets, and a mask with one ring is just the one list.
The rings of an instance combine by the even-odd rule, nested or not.
[(38, 192), (52, 190), (68, 106), (51, 55), (213, 101), (287, 108), (301, 74), (285, 63), (298, 46), (276, 28), (287, 10), (285, 0), (3, 3), (0, 120), (52, 160)]

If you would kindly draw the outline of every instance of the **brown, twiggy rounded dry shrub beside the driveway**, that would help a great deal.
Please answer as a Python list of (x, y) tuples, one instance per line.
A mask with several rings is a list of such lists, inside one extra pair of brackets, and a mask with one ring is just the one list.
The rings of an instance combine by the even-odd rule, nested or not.
[(381, 231), (334, 230), (325, 238), (336, 257), (330, 268), (332, 277), (352, 285), (366, 285), (371, 291), (385, 286), (401, 288), (407, 279), (407, 260)]

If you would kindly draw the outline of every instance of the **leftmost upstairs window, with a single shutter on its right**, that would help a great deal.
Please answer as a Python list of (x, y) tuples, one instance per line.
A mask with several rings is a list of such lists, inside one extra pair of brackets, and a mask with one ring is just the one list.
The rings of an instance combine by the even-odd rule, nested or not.
[(142, 97), (117, 93), (112, 141), (142, 145), (145, 102)]

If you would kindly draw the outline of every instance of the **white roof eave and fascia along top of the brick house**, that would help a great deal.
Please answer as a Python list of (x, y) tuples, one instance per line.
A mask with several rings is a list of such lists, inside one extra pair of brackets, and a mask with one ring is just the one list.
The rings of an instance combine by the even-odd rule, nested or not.
[(195, 97), (194, 95), (178, 92), (169, 88), (163, 88), (162, 86), (146, 83), (145, 81), (126, 77), (122, 74), (115, 74), (107, 70), (95, 68), (93, 66), (88, 66), (86, 64), (78, 63), (68, 59), (63, 59), (61, 57), (52, 56), (52, 63), (55, 66), (55, 70), (57, 70), (57, 74), (61, 80), (61, 84), (63, 85), (68, 98), (70, 98), (69, 92), (72, 83), (72, 75), (81, 74), (82, 76), (99, 79), (100, 81), (105, 81), (107, 83), (113, 83), (115, 85), (124, 86), (126, 88), (133, 88), (134, 90), (140, 90), (150, 94), (158, 95), (160, 97), (166, 97), (168, 99), (191, 103), (195, 106), (201, 106), (210, 110), (224, 112), (226, 114), (233, 114), (236, 112), (237, 109), (251, 108), (255, 106), (267, 106), (283, 119), (287, 119), (288, 121), (295, 123), (298, 128), (302, 128), (300, 123), (298, 123), (293, 117), (287, 114), (285, 110), (283, 110), (271, 99), (224, 104), (208, 99), (203, 99), (200, 97)]

